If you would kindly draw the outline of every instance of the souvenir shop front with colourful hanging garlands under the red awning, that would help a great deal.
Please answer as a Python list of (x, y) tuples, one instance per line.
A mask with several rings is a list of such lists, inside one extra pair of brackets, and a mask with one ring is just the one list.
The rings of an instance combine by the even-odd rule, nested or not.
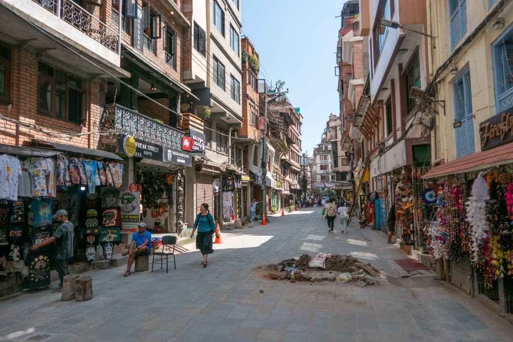
[(482, 146), (421, 176), (434, 201), (423, 233), (447, 281), (513, 313), (513, 142)]

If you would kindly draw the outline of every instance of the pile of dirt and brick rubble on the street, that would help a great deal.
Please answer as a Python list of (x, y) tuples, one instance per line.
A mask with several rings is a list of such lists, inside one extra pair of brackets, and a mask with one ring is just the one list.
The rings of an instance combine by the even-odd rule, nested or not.
[(303, 254), (299, 259), (285, 259), (270, 268), (268, 278), (290, 282), (337, 281), (356, 283), (360, 287), (379, 284), (374, 277), (380, 271), (370, 263), (364, 264), (350, 255), (318, 253), (313, 258)]

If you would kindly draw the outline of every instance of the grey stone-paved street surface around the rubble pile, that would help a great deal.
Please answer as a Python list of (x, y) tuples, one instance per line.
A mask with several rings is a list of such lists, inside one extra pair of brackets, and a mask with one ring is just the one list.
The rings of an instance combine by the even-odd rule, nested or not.
[[(336, 227), (337, 229), (338, 227)], [(91, 271), (93, 300), (49, 290), (0, 302), (0, 337), (45, 341), (502, 341), (513, 327), (459, 290), (426, 276), (418, 287), (360, 288), (255, 276), (258, 265), (315, 252), (351, 254), (397, 277), (406, 257), (386, 237), (352, 224), (328, 234), (318, 208), (223, 233), (208, 268), (199, 252), (169, 273)], [(189, 246), (192, 249), (192, 246)], [(405, 283), (411, 284), (411, 282)], [(424, 284), (424, 285), (423, 285)], [(263, 290), (264, 293), (260, 293)]]

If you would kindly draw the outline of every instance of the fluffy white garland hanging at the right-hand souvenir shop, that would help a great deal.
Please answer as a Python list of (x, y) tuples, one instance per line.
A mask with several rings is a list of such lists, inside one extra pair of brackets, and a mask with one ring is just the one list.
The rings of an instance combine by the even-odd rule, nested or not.
[(481, 262), (484, 239), (489, 237), (489, 227), (486, 221), (486, 200), (471, 196), (466, 202), (467, 221), (472, 227), (470, 231), (471, 259)]

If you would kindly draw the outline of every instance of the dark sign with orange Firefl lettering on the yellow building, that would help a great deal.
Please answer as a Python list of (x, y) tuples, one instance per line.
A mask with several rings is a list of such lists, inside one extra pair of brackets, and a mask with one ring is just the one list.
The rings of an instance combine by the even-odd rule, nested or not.
[(513, 142), (513, 112), (504, 111), (481, 122), (479, 135), (482, 151)]

